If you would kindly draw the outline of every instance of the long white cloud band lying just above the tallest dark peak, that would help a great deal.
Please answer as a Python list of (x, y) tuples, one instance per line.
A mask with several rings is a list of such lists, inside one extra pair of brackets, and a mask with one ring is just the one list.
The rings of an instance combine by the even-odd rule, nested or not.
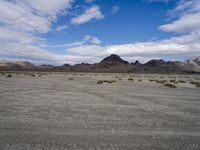
[(172, 37), (161, 41), (137, 42), (121, 45), (77, 45), (68, 47), (67, 50), (72, 55), (105, 57), (110, 54), (118, 54), (124, 58), (162, 58), (165, 56), (190, 57), (196, 56), (200, 52), (200, 34), (193, 33), (179, 37)]

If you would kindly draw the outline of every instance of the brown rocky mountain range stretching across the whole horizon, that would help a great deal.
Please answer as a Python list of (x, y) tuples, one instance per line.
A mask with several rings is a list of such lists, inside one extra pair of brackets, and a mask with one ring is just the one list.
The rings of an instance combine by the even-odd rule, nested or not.
[(152, 59), (145, 64), (139, 61), (129, 63), (112, 54), (99, 63), (64, 64), (62, 66), (40, 65), (30, 62), (0, 61), (0, 71), (61, 71), (61, 72), (110, 72), (110, 73), (200, 73), (200, 57), (194, 60), (164, 61)]

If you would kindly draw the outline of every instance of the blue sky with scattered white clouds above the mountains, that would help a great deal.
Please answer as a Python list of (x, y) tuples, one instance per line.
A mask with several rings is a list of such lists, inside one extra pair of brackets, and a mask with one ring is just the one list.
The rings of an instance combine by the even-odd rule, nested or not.
[(200, 56), (200, 0), (0, 0), (0, 60), (96, 63)]

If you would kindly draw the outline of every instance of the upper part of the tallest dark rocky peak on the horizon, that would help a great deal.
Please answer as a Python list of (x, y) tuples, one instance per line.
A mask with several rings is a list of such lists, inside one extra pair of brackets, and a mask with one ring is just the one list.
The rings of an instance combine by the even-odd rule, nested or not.
[(106, 63), (106, 64), (128, 64), (127, 61), (123, 60), (118, 55), (112, 54), (106, 58), (104, 58), (100, 63)]

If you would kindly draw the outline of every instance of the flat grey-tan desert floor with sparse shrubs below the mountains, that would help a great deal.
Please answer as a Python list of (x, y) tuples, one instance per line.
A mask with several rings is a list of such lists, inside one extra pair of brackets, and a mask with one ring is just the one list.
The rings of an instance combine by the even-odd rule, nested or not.
[(199, 81), (197, 75), (0, 75), (0, 149), (199, 150), (200, 88), (191, 84)]

